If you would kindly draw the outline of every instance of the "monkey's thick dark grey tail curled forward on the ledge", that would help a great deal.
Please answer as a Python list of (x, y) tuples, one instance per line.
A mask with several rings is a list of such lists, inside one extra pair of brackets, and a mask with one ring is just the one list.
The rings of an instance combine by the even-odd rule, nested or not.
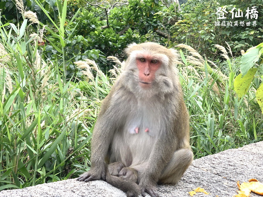
[(106, 182), (126, 192), (127, 197), (137, 197), (141, 193), (138, 184), (131, 181), (123, 180), (121, 177), (110, 175), (108, 170), (106, 172)]

